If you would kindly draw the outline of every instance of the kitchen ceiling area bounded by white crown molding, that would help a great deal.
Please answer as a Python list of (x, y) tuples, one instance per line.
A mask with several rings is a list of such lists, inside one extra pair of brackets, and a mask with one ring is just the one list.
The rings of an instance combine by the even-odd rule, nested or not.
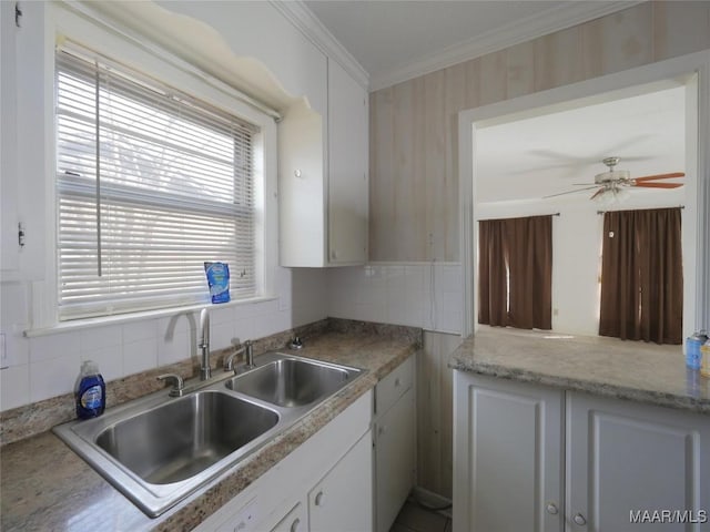
[(635, 1), (305, 0), (371, 90), (633, 6)]

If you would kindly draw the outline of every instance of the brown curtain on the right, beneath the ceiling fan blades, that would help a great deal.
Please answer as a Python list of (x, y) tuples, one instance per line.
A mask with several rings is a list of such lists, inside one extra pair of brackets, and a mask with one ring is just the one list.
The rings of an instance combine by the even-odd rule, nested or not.
[(605, 213), (599, 335), (682, 342), (679, 207)]

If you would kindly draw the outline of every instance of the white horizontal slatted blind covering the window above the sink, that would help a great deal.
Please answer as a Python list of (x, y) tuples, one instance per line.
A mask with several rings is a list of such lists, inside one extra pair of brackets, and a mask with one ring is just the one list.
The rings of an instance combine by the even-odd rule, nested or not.
[(257, 129), (88, 51), (55, 55), (61, 320), (255, 295)]

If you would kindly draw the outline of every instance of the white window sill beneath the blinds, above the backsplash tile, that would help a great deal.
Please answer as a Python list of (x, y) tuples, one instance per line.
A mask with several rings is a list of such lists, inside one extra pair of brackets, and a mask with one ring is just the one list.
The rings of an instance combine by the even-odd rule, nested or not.
[(277, 296), (258, 296), (258, 297), (253, 297), (251, 299), (240, 299), (240, 300), (230, 301), (230, 303), (221, 303), (221, 304), (202, 303), (199, 305), (189, 305), (184, 307), (171, 307), (171, 308), (160, 308), (156, 310), (145, 310), (143, 313), (130, 313), (130, 314), (119, 314), (115, 316), (101, 316), (97, 318), (75, 319), (71, 321), (63, 321), (49, 327), (38, 327), (33, 329), (27, 329), (23, 331), (23, 335), (27, 338), (36, 338), (39, 336), (48, 336), (48, 335), (55, 335), (60, 332), (68, 332), (72, 330), (87, 329), (90, 327), (99, 327), (104, 325), (116, 325), (116, 324), (129, 324), (131, 321), (143, 321), (145, 319), (152, 319), (152, 318), (164, 318), (168, 316), (174, 316), (176, 314), (193, 313), (195, 310), (201, 310), (205, 307), (210, 307), (210, 308), (239, 307), (244, 305), (253, 305), (255, 303), (272, 301), (275, 299), (278, 299), (278, 297)]

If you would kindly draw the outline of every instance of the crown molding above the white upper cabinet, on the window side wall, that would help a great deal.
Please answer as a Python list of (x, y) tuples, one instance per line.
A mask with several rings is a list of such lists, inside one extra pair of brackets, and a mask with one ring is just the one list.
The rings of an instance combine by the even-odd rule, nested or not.
[(345, 71), (357, 81), (363, 89), (369, 89), (369, 74), (343, 44), (323, 25), (323, 22), (313, 14), (301, 0), (271, 0), (286, 19), (291, 21), (311, 42), (313, 42), (328, 60), (338, 62)]

